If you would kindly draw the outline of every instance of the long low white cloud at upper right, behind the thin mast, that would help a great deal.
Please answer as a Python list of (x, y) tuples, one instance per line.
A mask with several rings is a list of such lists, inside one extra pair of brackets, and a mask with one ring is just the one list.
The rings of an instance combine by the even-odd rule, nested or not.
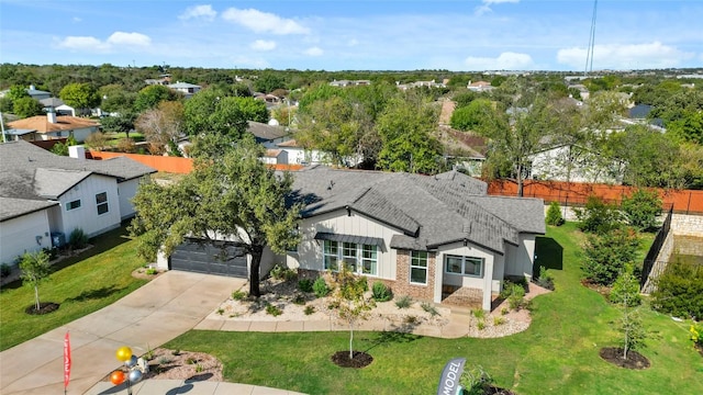
[[(693, 53), (679, 50), (658, 41), (645, 44), (609, 44), (593, 47), (593, 68), (633, 69), (677, 67), (693, 58)], [(585, 67), (587, 48), (559, 49), (557, 61), (574, 69)]]

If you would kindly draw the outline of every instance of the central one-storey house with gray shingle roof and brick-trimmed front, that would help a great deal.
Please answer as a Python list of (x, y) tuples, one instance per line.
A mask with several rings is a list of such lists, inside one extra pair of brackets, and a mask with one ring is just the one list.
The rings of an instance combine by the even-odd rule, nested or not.
[(434, 177), (312, 167), (294, 173), (301, 271), (344, 263), (398, 295), (489, 311), (506, 276), (533, 274), (544, 202), (487, 195), (457, 171)]

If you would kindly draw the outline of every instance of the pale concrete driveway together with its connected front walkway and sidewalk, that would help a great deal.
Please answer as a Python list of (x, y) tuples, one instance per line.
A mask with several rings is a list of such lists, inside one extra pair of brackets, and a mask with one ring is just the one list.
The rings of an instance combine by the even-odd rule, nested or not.
[[(0, 394), (60, 394), (64, 392), (64, 336), (70, 332), (71, 375), (67, 394), (126, 393), (102, 380), (121, 366), (115, 351), (129, 346), (137, 356), (157, 348), (190, 329), (232, 331), (348, 330), (334, 320), (239, 321), (213, 313), (245, 284), (243, 279), (169, 271), (88, 316), (0, 352)], [(465, 314), (451, 314), (442, 327), (419, 327), (416, 335), (459, 338), (466, 336)], [(389, 324), (365, 321), (359, 330), (398, 330)], [(132, 386), (134, 395), (293, 395), (298, 393), (254, 385), (178, 380), (145, 380)]]

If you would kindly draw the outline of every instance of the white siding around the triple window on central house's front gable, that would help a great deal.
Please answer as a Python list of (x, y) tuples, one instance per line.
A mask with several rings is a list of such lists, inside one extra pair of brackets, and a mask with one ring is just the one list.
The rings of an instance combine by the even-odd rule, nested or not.
[[(322, 240), (315, 240), (319, 232), (336, 235), (353, 235), (362, 237), (376, 237), (383, 239), (383, 245), (378, 247), (378, 278), (395, 280), (395, 250), (390, 248), (391, 238), (401, 234), (369, 217), (346, 210), (305, 218), (300, 225), (301, 242), (298, 253), (288, 256), (288, 266), (300, 267), (308, 270), (324, 270)], [(371, 276), (371, 275), (369, 275)]]

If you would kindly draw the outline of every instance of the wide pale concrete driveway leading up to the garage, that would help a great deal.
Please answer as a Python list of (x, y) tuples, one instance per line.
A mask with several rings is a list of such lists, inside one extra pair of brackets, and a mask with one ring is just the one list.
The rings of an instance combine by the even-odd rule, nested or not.
[(245, 279), (169, 271), (114, 304), (0, 353), (0, 393), (64, 391), (64, 336), (70, 334), (68, 394), (83, 394), (121, 365), (122, 346), (141, 356), (193, 328)]

